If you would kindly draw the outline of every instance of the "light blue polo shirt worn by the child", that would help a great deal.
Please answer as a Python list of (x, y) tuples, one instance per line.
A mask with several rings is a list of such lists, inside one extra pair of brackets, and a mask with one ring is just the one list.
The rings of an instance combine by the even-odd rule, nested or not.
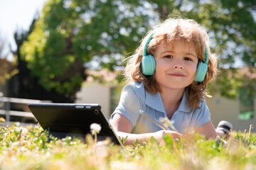
[[(171, 118), (174, 121), (174, 127), (181, 134), (191, 133), (194, 128), (198, 128), (210, 121), (210, 112), (206, 106), (206, 102), (199, 103), (201, 108), (195, 108), (192, 112), (188, 106), (188, 98), (184, 91), (181, 104)], [(166, 111), (161, 96), (158, 93), (150, 94), (144, 88), (141, 82), (132, 82), (124, 86), (120, 97), (119, 105), (112, 113), (110, 121), (115, 113), (124, 115), (132, 123), (132, 133), (156, 132), (162, 130), (143, 115), (139, 110), (145, 111), (155, 120), (166, 118)]]

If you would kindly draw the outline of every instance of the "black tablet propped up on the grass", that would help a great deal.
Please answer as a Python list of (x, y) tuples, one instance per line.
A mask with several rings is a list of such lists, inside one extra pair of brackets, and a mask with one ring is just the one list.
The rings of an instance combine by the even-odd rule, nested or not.
[(43, 130), (49, 128), (50, 135), (58, 138), (82, 137), (90, 132), (90, 125), (101, 126), (97, 141), (107, 137), (117, 145), (122, 145), (99, 104), (92, 103), (29, 103), (28, 108)]

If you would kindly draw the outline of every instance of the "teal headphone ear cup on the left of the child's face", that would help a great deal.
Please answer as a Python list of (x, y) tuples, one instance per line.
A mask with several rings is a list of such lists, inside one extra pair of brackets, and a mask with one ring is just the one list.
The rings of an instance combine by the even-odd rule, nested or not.
[(142, 72), (146, 76), (151, 76), (156, 70), (156, 60), (152, 55), (142, 57)]

